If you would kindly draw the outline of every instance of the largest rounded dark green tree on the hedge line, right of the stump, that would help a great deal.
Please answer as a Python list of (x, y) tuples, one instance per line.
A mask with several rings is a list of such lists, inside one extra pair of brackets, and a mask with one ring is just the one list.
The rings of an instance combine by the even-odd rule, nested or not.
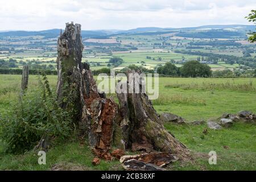
[(201, 64), (199, 61), (188, 61), (181, 68), (181, 75), (185, 77), (210, 77), (212, 71), (207, 64)]

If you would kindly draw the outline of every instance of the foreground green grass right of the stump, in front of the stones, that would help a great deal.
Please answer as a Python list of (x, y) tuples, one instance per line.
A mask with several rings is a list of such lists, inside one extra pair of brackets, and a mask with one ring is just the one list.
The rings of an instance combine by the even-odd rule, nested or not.
[[(164, 125), (195, 154), (193, 162), (177, 162), (174, 170), (255, 170), (256, 140), (255, 125), (234, 123), (230, 129), (210, 130), (204, 135), (206, 125)], [(201, 137), (201, 136), (204, 137)], [(225, 149), (224, 146), (228, 146)], [(216, 151), (217, 164), (208, 163), (208, 153)]]

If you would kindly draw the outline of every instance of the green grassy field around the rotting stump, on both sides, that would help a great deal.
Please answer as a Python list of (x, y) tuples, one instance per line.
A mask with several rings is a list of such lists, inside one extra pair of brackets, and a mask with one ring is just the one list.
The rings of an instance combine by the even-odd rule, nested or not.
[[(0, 112), (11, 108), (18, 98), (21, 76), (0, 75)], [(48, 76), (52, 88), (56, 76)], [(36, 76), (30, 76), (28, 87), (38, 85)], [(152, 101), (158, 113), (177, 114), (187, 122), (195, 119), (218, 118), (223, 113), (250, 110), (256, 113), (256, 78), (159, 78), (159, 98)], [(170, 170), (255, 170), (256, 126), (249, 123), (234, 123), (229, 129), (210, 130), (203, 135), (206, 125), (176, 125), (165, 123), (177, 139), (190, 150), (193, 160), (175, 162)], [(22, 155), (6, 154), (5, 144), (0, 139), (0, 169), (2, 170), (48, 170), (54, 164), (65, 169), (122, 169), (117, 160), (101, 160), (93, 166), (93, 154), (86, 145), (76, 139), (56, 141), (56, 147), (47, 152), (47, 164), (39, 165), (38, 156), (28, 151)], [(224, 146), (228, 146), (224, 147)], [(209, 165), (208, 152), (217, 152), (217, 165)]]

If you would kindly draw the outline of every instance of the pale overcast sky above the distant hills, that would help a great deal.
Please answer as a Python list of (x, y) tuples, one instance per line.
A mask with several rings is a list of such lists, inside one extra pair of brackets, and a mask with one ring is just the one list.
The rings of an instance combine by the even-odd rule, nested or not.
[(195, 27), (250, 24), (244, 18), (255, 0), (0, 0), (0, 30), (64, 28)]

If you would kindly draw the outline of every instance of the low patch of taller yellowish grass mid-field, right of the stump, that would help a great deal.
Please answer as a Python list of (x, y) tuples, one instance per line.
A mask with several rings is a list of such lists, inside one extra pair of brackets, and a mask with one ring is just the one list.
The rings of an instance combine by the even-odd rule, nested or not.
[(173, 96), (159, 96), (157, 100), (153, 100), (154, 105), (170, 105), (170, 104), (187, 104), (187, 105), (206, 105), (205, 100), (196, 98), (195, 96), (183, 96), (175, 94)]

